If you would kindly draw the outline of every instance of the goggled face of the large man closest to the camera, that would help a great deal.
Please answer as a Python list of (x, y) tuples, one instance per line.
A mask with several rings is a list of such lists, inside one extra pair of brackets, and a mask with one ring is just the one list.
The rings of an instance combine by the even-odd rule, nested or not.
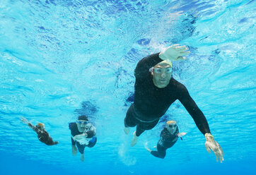
[(156, 64), (152, 68), (151, 74), (153, 76), (153, 84), (156, 87), (163, 88), (170, 83), (172, 76), (172, 67), (169, 64)]

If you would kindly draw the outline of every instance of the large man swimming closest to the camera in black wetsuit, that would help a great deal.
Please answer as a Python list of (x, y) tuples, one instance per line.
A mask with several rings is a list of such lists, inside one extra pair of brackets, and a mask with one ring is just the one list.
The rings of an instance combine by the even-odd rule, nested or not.
[(159, 119), (175, 100), (179, 100), (206, 138), (206, 150), (214, 151), (216, 159), (223, 161), (223, 150), (211, 135), (208, 122), (202, 111), (197, 107), (185, 85), (172, 77), (171, 61), (185, 60), (190, 52), (187, 47), (175, 44), (163, 52), (151, 54), (141, 59), (134, 75), (134, 104), (129, 107), (124, 119), (124, 132), (136, 126), (131, 146), (134, 146), (141, 133), (156, 126)]

